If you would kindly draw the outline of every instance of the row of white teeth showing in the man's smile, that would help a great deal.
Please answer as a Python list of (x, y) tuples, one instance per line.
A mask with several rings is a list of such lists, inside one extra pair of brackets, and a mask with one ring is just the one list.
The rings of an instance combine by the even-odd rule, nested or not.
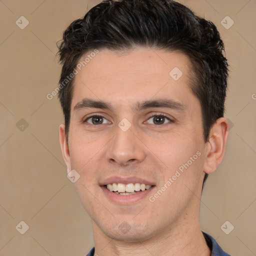
[(144, 191), (145, 189), (149, 189), (151, 185), (146, 185), (146, 184), (140, 184), (140, 183), (129, 183), (129, 184), (123, 184), (123, 183), (112, 183), (112, 184), (107, 184), (106, 188), (109, 191), (113, 191), (115, 193), (120, 193), (120, 194), (133, 194), (135, 193), (134, 191), (139, 191), (142, 190)]

